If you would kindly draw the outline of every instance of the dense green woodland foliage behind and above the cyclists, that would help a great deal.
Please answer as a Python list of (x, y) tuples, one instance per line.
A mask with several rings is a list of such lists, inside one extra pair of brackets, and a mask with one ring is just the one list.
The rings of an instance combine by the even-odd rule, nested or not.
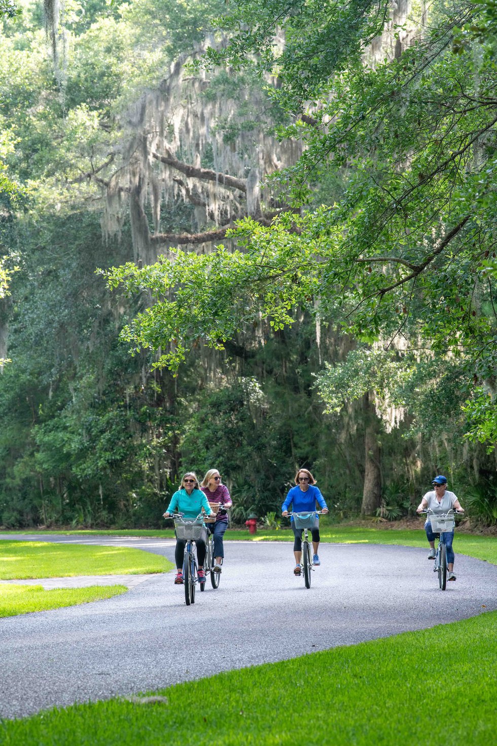
[[(19, 6), (0, 21), (0, 524), (159, 525), (180, 471), (212, 466), (239, 521), (277, 511), (298, 466), (338, 515), (368, 480), (365, 512), (405, 514), (447, 471), (493, 521), (491, 16), (475, 31), (472, 6), (440, 7), (400, 57), (364, 65), (382, 4), (75, 1), (58, 25)], [(239, 96), (215, 128), (241, 163), (271, 127), (306, 150), (270, 178), (272, 223), (140, 266), (129, 184), (115, 235), (106, 189), (136, 101), (222, 13), (234, 41), (207, 60), (231, 68), (191, 68), (197, 106)], [(180, 177), (161, 229), (183, 236), (206, 192)]]

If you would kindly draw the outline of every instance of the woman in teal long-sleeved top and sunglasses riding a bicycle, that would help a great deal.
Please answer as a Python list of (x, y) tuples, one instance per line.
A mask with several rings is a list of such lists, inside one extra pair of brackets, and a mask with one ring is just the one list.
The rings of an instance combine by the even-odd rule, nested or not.
[[(209, 506), (206, 496), (198, 486), (197, 476), (194, 471), (187, 471), (181, 480), (181, 487), (174, 492), (168, 509), (164, 513), (164, 518), (169, 518), (171, 513), (183, 513), (184, 518), (197, 518), (202, 512), (202, 508), (207, 515), (212, 514), (212, 508)], [(203, 572), (203, 561), (206, 559), (206, 540), (207, 531), (203, 528), (202, 538), (195, 539), (197, 545), (198, 561), (198, 582), (205, 583), (206, 576)], [(186, 539), (176, 539), (176, 551), (174, 559), (176, 560), (176, 577), (174, 583), (183, 584), (183, 556), (185, 554)]]

